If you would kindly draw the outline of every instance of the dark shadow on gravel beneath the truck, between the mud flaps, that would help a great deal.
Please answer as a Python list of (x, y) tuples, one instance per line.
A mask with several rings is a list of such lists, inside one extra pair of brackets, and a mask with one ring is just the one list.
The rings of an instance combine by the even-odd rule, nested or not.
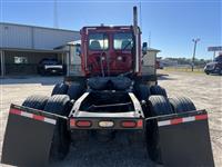
[(53, 163), (50, 167), (158, 167), (150, 160), (144, 143), (120, 138), (110, 141), (98, 141), (91, 137), (87, 141), (78, 140), (63, 161)]

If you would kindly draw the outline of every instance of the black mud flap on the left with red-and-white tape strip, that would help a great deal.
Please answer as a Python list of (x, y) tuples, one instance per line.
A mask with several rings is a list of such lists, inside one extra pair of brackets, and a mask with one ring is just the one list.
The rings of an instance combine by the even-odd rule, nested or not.
[(21, 167), (48, 166), (59, 116), (11, 105), (1, 163)]

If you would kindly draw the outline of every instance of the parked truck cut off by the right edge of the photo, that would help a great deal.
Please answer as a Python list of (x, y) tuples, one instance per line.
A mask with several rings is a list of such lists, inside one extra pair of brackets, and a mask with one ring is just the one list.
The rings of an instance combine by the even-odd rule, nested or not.
[(218, 56), (212, 62), (206, 63), (206, 66), (204, 67), (204, 72), (206, 75), (222, 75), (222, 55)]

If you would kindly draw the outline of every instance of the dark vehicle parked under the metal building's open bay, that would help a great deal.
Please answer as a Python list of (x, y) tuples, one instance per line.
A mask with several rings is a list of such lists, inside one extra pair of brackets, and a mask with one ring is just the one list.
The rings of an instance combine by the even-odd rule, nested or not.
[(42, 59), (38, 65), (38, 73), (46, 75), (64, 75), (65, 67), (58, 59)]

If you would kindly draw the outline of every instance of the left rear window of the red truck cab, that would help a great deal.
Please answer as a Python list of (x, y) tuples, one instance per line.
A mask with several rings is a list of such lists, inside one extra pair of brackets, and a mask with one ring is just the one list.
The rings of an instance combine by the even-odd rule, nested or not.
[(107, 50), (109, 48), (109, 40), (107, 33), (91, 33), (89, 35), (90, 50)]

